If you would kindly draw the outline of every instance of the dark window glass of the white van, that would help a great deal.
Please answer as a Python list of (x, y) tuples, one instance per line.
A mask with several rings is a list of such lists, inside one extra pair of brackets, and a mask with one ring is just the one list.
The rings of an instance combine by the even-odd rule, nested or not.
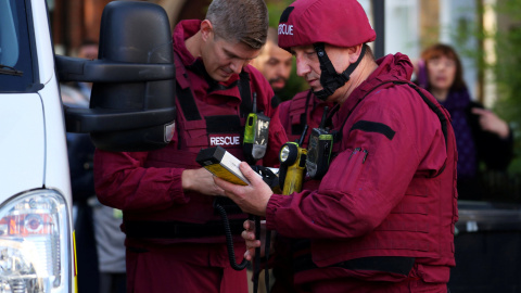
[(0, 0), (0, 92), (25, 92), (34, 84), (24, 0)]

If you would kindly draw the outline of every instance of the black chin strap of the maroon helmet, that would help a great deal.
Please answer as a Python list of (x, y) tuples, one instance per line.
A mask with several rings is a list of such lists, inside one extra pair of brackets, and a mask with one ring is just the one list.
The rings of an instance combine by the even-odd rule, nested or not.
[(320, 85), (322, 85), (322, 90), (314, 91), (315, 95), (318, 99), (325, 101), (329, 95), (333, 94), (335, 90), (350, 80), (350, 75), (355, 71), (356, 66), (360, 63), (361, 59), (366, 54), (366, 46), (361, 46), (361, 52), (358, 56), (358, 60), (351, 64), (343, 73), (338, 74), (333, 67), (333, 64), (326, 53), (323, 42), (317, 42), (314, 44), (315, 51), (318, 55), (318, 61), (320, 62)]

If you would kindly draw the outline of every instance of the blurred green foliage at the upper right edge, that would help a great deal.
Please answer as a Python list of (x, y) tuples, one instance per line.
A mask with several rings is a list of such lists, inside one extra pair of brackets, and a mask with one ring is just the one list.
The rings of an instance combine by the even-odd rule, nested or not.
[[(454, 30), (455, 48), (467, 58), (474, 61), (480, 81), (485, 79), (486, 71), (494, 73), (497, 90), (497, 101), (494, 112), (506, 119), (513, 130), (516, 157), (510, 164), (509, 173), (521, 174), (521, 1), (501, 0), (496, 5), (483, 5), (476, 1), (478, 9), (475, 22), (460, 20)], [(483, 28), (483, 15), (485, 10), (495, 11), (497, 20), (496, 31), (485, 31)], [(469, 39), (475, 42), (469, 42)], [(483, 43), (493, 40), (495, 52), (485, 52)], [(469, 46), (469, 43), (471, 43)], [(493, 54), (495, 60), (486, 58)]]

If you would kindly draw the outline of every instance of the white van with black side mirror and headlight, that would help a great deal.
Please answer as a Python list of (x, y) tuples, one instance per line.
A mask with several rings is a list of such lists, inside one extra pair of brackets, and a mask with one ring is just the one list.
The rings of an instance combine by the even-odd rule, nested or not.
[[(109, 151), (166, 145), (175, 66), (164, 10), (114, 1), (97, 61), (54, 56), (46, 0), (0, 0), (0, 292), (75, 292), (65, 132)], [(66, 109), (59, 81), (94, 81)]]

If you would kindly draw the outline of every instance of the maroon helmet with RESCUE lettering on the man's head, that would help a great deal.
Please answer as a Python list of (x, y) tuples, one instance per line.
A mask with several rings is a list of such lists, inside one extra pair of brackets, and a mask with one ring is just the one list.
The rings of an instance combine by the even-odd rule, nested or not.
[(279, 21), (279, 47), (288, 51), (316, 42), (353, 47), (376, 37), (356, 0), (296, 0)]

